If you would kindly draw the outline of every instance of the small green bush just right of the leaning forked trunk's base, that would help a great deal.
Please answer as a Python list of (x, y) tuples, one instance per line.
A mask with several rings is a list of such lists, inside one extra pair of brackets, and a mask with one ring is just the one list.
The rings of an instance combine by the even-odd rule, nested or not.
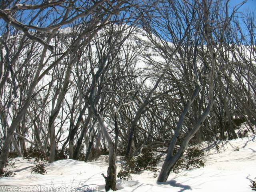
[(187, 148), (186, 154), (182, 156), (172, 167), (172, 172), (178, 173), (180, 169), (193, 169), (204, 167), (204, 152), (198, 147)]

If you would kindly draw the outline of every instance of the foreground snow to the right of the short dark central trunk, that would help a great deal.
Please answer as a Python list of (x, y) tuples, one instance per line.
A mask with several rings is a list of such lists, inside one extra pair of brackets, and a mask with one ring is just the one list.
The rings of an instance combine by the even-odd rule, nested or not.
[[(204, 168), (171, 173), (165, 183), (156, 182), (154, 174), (144, 171), (133, 175), (128, 182), (122, 182), (120, 192), (252, 191), (249, 185), (256, 177), (256, 136), (231, 140), (224, 146), (225, 151), (220, 149), (220, 153), (215, 148), (210, 150)], [(239, 151), (235, 151), (236, 147)]]

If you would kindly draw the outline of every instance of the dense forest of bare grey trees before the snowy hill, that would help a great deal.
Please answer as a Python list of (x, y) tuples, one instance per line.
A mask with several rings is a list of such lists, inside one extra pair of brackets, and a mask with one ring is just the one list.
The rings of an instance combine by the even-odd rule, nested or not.
[[(145, 146), (165, 182), (191, 144), (256, 126), (256, 16), (246, 0), (1, 0), (0, 172), (10, 153), (84, 161)], [(225, 135), (227, 132), (227, 136)]]

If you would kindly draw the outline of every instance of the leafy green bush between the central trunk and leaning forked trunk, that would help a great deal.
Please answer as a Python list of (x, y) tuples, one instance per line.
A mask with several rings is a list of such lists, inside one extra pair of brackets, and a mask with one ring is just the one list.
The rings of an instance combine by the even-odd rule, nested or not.
[(142, 153), (137, 157), (132, 157), (130, 160), (121, 164), (121, 170), (117, 177), (123, 180), (132, 179), (131, 174), (137, 174), (142, 170), (157, 172), (157, 164), (160, 157), (156, 157), (151, 148), (143, 148)]

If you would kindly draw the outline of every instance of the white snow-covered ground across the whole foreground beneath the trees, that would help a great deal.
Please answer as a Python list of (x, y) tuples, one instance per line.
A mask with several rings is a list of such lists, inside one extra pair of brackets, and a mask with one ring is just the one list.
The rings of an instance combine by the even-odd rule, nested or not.
[[(224, 146), (219, 144), (220, 152), (215, 146), (212, 147), (206, 156), (204, 168), (171, 173), (164, 183), (156, 182), (154, 173), (143, 171), (132, 174), (132, 180), (129, 181), (117, 179), (117, 188), (120, 192), (252, 191), (250, 180), (256, 177), (256, 135), (227, 141)], [(119, 171), (121, 161), (117, 163)], [(16, 158), (15, 167), (12, 168), (16, 176), (0, 178), (0, 191), (28, 191), (28, 187), (30, 191), (105, 191), (105, 180), (101, 174), (106, 175), (106, 156), (90, 163), (58, 160), (45, 165), (45, 175), (31, 174), (35, 165), (33, 160), (28, 162)]]

